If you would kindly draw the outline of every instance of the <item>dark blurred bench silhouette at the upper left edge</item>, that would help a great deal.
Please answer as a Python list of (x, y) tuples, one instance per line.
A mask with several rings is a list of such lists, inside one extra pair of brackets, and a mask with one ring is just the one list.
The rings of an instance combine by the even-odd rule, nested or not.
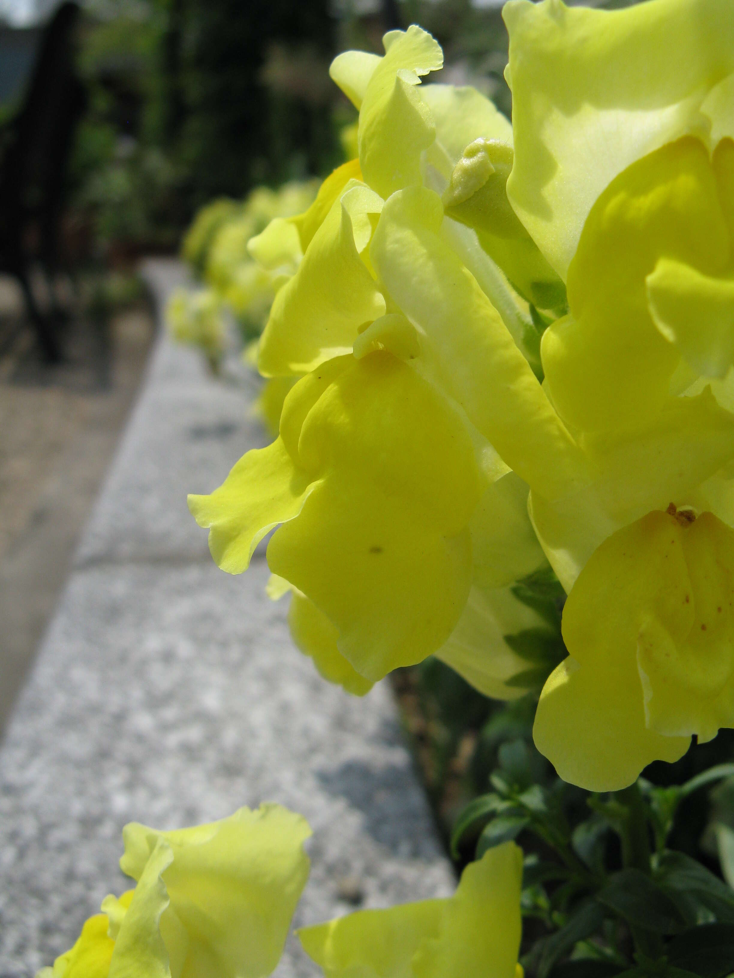
[(46, 272), (53, 296), (59, 222), (73, 132), (84, 111), (74, 70), (78, 7), (64, 3), (46, 27), (23, 105), (0, 138), (0, 270), (21, 284), (28, 313), (47, 358), (59, 359), (56, 310), (39, 309), (28, 281), (33, 262)]

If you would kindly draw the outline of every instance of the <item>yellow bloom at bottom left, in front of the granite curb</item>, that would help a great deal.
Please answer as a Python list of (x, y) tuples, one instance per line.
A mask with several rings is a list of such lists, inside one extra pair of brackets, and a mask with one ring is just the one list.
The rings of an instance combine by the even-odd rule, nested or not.
[(125, 825), (120, 867), (135, 889), (107, 897), (37, 978), (265, 978), (308, 876), (310, 834), (274, 804), (170, 832)]

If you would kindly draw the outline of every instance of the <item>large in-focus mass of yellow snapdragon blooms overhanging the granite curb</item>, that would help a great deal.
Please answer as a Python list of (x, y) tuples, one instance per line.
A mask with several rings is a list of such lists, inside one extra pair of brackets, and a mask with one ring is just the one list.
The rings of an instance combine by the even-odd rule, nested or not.
[(298, 227), (258, 360), (298, 382), (190, 506), (231, 573), (280, 527), (272, 588), (328, 678), (436, 654), (512, 697), (545, 669), (539, 749), (616, 789), (734, 726), (734, 16), (504, 17), (512, 127), (422, 83), (417, 26), (333, 63), (358, 157), (260, 236)]

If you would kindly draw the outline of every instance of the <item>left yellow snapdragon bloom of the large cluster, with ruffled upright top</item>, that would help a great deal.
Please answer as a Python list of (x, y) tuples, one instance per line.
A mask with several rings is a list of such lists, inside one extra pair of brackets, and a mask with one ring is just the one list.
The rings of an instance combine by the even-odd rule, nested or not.
[(250, 245), (273, 265), (302, 252), (259, 343), (262, 374), (302, 377), (280, 438), (190, 506), (232, 573), (283, 524), (268, 562), (297, 595), (297, 644), (346, 689), (436, 652), (487, 694), (518, 696), (528, 663), (505, 637), (549, 630), (512, 590), (547, 566), (528, 478), (565, 486), (573, 440), (508, 330), (512, 289), (432, 189), (479, 136), (510, 147), (512, 132), (474, 89), (420, 84), (442, 63), (428, 33), (385, 45), (331, 68), (360, 111), (358, 159)]

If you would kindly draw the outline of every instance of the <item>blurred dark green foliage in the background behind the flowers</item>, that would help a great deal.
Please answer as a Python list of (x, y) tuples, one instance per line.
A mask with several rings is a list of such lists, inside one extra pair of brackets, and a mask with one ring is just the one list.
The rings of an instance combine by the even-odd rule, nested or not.
[[(382, 53), (420, 22), (443, 45), (436, 80), (510, 111), (499, 8), (470, 0), (86, 0), (78, 67), (88, 108), (69, 165), (69, 234), (118, 264), (174, 250), (196, 210), (252, 187), (323, 177), (356, 113), (332, 84), (339, 51)], [(16, 45), (23, 32), (16, 32)], [(38, 31), (26, 30), (25, 43)], [(1, 79), (0, 79), (1, 80)], [(0, 116), (23, 98), (0, 84)]]

